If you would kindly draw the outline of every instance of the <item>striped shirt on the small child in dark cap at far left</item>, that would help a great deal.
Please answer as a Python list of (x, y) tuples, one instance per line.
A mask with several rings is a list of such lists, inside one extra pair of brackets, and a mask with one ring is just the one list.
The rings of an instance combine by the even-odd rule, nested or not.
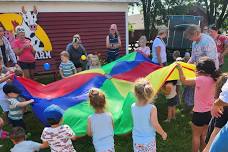
[(8, 101), (10, 102), (8, 117), (12, 120), (23, 119), (23, 109), (17, 106), (17, 104), (19, 103), (18, 99), (9, 98)]

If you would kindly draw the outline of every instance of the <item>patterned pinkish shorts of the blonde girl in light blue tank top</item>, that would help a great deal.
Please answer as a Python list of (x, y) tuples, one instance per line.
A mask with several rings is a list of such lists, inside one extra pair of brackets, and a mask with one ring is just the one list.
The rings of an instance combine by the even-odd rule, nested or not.
[(134, 152), (156, 152), (156, 141), (153, 140), (148, 144), (134, 143)]

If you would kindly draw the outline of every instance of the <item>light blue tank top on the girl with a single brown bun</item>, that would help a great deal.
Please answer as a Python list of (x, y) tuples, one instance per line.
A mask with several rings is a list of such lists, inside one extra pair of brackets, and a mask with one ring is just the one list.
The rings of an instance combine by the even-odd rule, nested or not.
[(112, 117), (109, 113), (93, 114), (90, 116), (93, 144), (96, 151), (114, 148), (114, 131)]

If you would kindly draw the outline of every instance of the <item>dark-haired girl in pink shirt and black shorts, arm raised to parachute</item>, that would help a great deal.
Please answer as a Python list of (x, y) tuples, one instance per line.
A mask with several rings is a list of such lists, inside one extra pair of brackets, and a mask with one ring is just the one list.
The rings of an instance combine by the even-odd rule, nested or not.
[(180, 80), (184, 85), (195, 86), (192, 116), (192, 152), (206, 146), (205, 138), (211, 120), (210, 110), (215, 97), (215, 84), (219, 77), (215, 63), (208, 57), (200, 58), (196, 65), (196, 78), (186, 80), (181, 65), (177, 64)]

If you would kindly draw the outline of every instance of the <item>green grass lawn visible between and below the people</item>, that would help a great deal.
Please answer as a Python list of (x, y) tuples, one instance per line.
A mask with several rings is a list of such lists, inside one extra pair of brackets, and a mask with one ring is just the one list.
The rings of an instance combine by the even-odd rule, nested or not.
[[(225, 65), (223, 71), (228, 72), (228, 58), (225, 59)], [(41, 82), (48, 83), (47, 78), (42, 78)], [(158, 108), (159, 122), (168, 133), (168, 139), (163, 141), (161, 137), (157, 136), (157, 151), (158, 152), (190, 152), (191, 151), (191, 116), (189, 112), (181, 112), (183, 104), (177, 108), (177, 119), (171, 123), (163, 123), (163, 120), (167, 116), (167, 104), (164, 97), (159, 96), (156, 100), (156, 106)], [(29, 140), (40, 141), (40, 135), (44, 126), (37, 120), (32, 114), (25, 116), (25, 122), (28, 130), (32, 133)], [(9, 130), (8, 126), (5, 126), (6, 130)], [(0, 152), (8, 152), (13, 146), (9, 139), (0, 141)], [(92, 140), (90, 137), (82, 137), (74, 142), (74, 147), (78, 152), (93, 152)], [(132, 138), (131, 134), (115, 136), (115, 149), (116, 152), (132, 152)], [(42, 150), (41, 152), (48, 152)]]

